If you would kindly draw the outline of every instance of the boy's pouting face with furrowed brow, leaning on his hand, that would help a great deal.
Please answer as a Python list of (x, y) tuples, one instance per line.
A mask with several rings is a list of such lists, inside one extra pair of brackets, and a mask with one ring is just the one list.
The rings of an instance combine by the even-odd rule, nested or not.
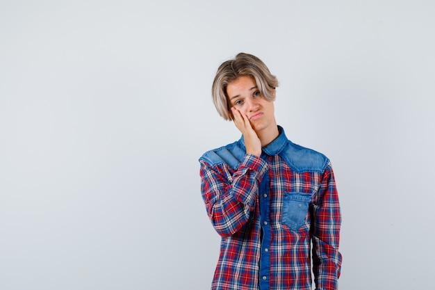
[(242, 115), (247, 115), (256, 133), (263, 130), (276, 129), (273, 102), (265, 99), (252, 76), (239, 76), (227, 86), (230, 106)]

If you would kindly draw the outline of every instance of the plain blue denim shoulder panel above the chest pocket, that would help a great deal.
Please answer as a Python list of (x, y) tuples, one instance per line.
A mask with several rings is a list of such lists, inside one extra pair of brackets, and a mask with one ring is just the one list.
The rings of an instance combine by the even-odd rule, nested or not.
[(329, 163), (327, 156), (322, 153), (292, 143), (290, 140), (279, 155), (296, 172), (324, 172)]

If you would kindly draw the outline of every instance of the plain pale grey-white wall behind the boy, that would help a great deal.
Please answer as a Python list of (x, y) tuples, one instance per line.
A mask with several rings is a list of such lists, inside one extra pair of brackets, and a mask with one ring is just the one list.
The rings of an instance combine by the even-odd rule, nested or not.
[(0, 1), (0, 289), (209, 289), (197, 159), (260, 57), (277, 122), (331, 159), (340, 289), (430, 289), (434, 1)]

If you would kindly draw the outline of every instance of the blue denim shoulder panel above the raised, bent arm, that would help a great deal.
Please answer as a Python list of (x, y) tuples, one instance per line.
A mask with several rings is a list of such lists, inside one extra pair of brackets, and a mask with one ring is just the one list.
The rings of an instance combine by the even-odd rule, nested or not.
[(239, 141), (229, 145), (210, 150), (201, 156), (199, 160), (204, 160), (211, 166), (227, 164), (227, 166), (236, 169), (243, 161), (245, 150), (240, 147)]

